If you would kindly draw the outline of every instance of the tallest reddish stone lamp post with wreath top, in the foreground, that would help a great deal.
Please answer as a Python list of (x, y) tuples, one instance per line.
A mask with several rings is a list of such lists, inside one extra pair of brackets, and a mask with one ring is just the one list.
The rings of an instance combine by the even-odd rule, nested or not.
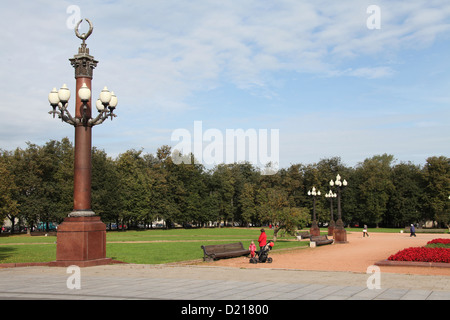
[(53, 118), (58, 115), (61, 121), (75, 127), (73, 211), (58, 226), (56, 261), (50, 264), (54, 266), (84, 267), (111, 262), (106, 258), (106, 226), (91, 209), (91, 149), (92, 127), (116, 116), (117, 97), (105, 87), (96, 102), (98, 115), (92, 118), (91, 82), (98, 61), (89, 55), (86, 46), (86, 39), (93, 31), (92, 23), (86, 21), (88, 33), (78, 32), (82, 20), (75, 27), (76, 36), (83, 42), (78, 54), (69, 59), (75, 68), (75, 116), (68, 110), (70, 90), (66, 85), (58, 91), (54, 88), (48, 96)]

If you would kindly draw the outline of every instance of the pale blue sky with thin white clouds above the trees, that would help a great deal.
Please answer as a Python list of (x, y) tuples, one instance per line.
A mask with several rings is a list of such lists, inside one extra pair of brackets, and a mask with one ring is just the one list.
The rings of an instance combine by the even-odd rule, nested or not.
[(174, 146), (194, 121), (224, 135), (278, 129), (281, 167), (450, 156), (448, 0), (3, 1), (0, 148), (73, 141), (47, 95), (67, 83), (73, 110), (77, 9), (94, 24), (93, 95), (106, 85), (119, 99), (118, 117), (93, 129), (112, 157)]

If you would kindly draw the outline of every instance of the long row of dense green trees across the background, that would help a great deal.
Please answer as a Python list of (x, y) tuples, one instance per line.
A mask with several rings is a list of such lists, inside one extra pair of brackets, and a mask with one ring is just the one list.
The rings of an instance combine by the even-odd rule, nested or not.
[[(116, 158), (92, 150), (92, 209), (105, 223), (128, 227), (273, 224), (287, 231), (311, 223), (312, 187), (319, 223), (330, 220), (324, 195), (339, 174), (346, 225), (404, 227), (436, 221), (450, 225), (450, 158), (433, 156), (423, 166), (375, 155), (354, 167), (339, 157), (292, 164), (263, 175), (252, 164), (175, 164), (169, 146), (156, 154), (128, 150)], [(73, 209), (74, 148), (68, 138), (43, 146), (0, 150), (0, 218), (25, 227), (60, 223)], [(333, 201), (335, 220), (336, 204)], [(277, 229), (278, 230), (278, 229)]]

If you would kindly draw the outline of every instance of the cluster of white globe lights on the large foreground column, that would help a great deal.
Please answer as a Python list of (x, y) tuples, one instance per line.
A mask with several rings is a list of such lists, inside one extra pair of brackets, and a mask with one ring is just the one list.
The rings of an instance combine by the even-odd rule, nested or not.
[[(83, 83), (80, 90), (78, 90), (78, 97), (83, 103), (82, 118), (73, 118), (69, 110), (67, 110), (70, 99), (70, 90), (67, 88), (66, 84), (64, 84), (59, 90), (53, 88), (53, 90), (49, 93), (48, 101), (53, 108), (53, 111), (49, 111), (49, 113), (53, 114), (53, 118), (55, 117), (55, 114), (58, 114), (62, 121), (74, 126), (80, 123), (88, 126), (95, 126), (97, 124), (101, 124), (108, 117), (111, 117), (111, 120), (113, 117), (116, 117), (113, 111), (117, 106), (117, 97), (114, 92), (109, 91), (107, 87), (103, 88), (102, 92), (100, 92), (99, 99), (97, 99), (97, 102), (95, 103), (95, 106), (99, 112), (95, 119), (88, 119), (86, 115), (87, 103), (91, 99), (91, 90), (87, 87), (86, 83)], [(58, 107), (59, 111), (56, 110), (56, 107)]]

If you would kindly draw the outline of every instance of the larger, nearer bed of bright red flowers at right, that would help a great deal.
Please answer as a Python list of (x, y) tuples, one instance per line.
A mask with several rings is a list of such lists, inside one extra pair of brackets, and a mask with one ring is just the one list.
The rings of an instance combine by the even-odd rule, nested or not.
[(450, 249), (411, 247), (397, 252), (388, 260), (450, 263)]

